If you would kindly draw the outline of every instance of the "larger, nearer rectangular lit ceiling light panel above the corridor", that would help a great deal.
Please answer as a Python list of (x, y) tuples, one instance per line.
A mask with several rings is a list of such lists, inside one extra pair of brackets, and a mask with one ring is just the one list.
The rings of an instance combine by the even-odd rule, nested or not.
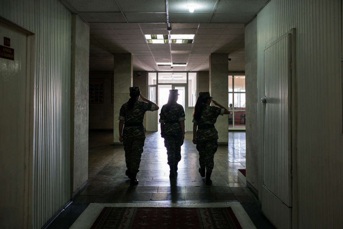
[(194, 34), (146, 34), (144, 35), (149, 44), (192, 44)]

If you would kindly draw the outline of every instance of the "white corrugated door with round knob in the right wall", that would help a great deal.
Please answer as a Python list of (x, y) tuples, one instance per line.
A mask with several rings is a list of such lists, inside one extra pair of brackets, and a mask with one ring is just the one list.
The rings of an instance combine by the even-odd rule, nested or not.
[(277, 229), (292, 227), (291, 36), (264, 50), (262, 212)]

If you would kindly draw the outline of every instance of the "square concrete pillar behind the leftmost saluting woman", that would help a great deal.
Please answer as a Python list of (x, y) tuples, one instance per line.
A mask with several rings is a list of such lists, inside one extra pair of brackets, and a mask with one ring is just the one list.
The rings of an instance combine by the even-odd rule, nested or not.
[(131, 53), (114, 54), (114, 131), (113, 143), (122, 145), (119, 142), (119, 111), (123, 104), (130, 98), (129, 87), (133, 83), (133, 56)]

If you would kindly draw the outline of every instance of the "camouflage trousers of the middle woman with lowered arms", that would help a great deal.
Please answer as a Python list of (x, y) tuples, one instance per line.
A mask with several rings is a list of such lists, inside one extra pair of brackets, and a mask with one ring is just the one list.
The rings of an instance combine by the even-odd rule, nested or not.
[(174, 165), (181, 160), (181, 137), (164, 136), (164, 146), (167, 148), (168, 165)]

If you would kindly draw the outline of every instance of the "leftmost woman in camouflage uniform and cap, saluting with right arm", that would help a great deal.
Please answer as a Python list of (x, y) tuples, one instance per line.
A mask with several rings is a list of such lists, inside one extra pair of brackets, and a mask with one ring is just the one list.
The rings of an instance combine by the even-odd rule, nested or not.
[[(158, 110), (158, 106), (140, 94), (139, 87), (130, 87), (130, 99), (123, 104), (119, 112), (119, 141), (123, 142), (127, 170), (125, 174), (131, 179), (130, 185), (138, 184), (136, 179), (143, 153), (145, 132), (143, 118), (145, 111)], [(146, 101), (138, 101), (139, 97)], [(125, 121), (125, 123), (124, 123)], [(123, 125), (124, 129), (123, 129)]]

